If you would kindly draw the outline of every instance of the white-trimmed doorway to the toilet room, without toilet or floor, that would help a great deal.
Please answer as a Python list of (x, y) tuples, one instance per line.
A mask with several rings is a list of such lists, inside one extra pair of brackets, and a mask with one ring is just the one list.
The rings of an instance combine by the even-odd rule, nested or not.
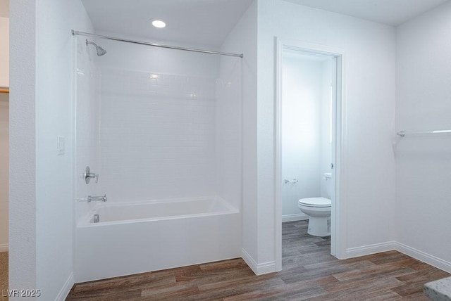
[[(276, 81), (276, 233), (282, 269), (282, 222), (308, 219), (300, 198), (331, 200), (330, 254), (345, 258), (340, 221), (343, 53), (278, 40)], [(330, 190), (326, 189), (325, 174)]]

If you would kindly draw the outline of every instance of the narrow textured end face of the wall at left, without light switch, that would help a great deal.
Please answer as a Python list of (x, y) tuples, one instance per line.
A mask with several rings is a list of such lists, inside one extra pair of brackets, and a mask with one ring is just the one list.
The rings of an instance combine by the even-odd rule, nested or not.
[(11, 1), (8, 284), (18, 290), (37, 288), (35, 16), (35, 1)]

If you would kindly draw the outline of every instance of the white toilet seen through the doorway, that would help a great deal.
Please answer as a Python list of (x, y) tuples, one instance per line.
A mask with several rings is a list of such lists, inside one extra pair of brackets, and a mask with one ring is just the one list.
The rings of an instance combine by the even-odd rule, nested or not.
[(309, 230), (313, 236), (330, 236), (330, 192), (332, 189), (332, 174), (327, 172), (323, 179), (326, 181), (328, 198), (301, 198), (297, 204), (299, 209), (309, 216)]

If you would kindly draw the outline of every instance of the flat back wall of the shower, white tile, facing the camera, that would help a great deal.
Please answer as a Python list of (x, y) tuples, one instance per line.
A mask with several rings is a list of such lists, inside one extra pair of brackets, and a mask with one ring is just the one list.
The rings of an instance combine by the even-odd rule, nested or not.
[(101, 69), (101, 187), (111, 201), (216, 194), (216, 79)]

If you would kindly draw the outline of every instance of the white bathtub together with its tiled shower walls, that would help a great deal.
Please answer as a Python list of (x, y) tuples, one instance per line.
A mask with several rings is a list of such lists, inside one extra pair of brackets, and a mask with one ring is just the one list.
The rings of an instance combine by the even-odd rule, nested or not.
[[(94, 41), (108, 53), (97, 57), (85, 39), (75, 39), (75, 280), (240, 257), (240, 58), (103, 39)], [(85, 184), (87, 165), (99, 174), (98, 183)], [(103, 204), (85, 200), (104, 194), (108, 202)], [(192, 205), (186, 206), (187, 200)], [(209, 212), (197, 206), (199, 200), (211, 200), (201, 202)], [(211, 209), (213, 200), (228, 210)], [(199, 207), (199, 212), (184, 213), (181, 207), (175, 210), (177, 218), (156, 217), (149, 210), (139, 219), (87, 222), (99, 206), (120, 204), (122, 212), (130, 212), (137, 203), (166, 203), (173, 210), (173, 202)], [(183, 239), (180, 233), (185, 233)], [(116, 245), (109, 245), (111, 241)], [(90, 247), (93, 243), (107, 248)], [(227, 248), (218, 250), (218, 245)], [(99, 252), (89, 256), (89, 248)], [(177, 252), (180, 249), (184, 251)], [(110, 255), (103, 254), (108, 250)], [(121, 260), (128, 264), (109, 269)]]

